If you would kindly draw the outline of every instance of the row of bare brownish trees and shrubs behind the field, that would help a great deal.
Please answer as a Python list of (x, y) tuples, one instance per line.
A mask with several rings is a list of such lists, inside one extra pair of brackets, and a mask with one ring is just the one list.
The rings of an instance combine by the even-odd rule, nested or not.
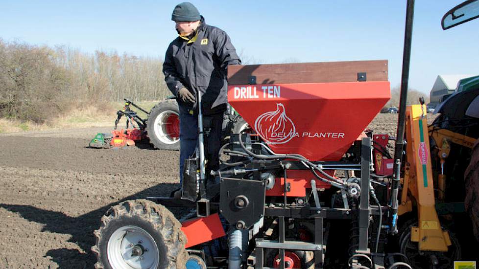
[(42, 123), (74, 107), (170, 95), (159, 57), (0, 39), (0, 117)]

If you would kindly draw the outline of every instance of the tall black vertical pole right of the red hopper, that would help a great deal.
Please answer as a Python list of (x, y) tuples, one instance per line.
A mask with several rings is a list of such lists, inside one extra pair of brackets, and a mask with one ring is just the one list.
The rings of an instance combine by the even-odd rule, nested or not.
[(396, 145), (394, 148), (394, 175), (391, 189), (391, 208), (390, 216), (391, 231), (397, 232), (398, 216), (398, 190), (401, 180), (401, 161), (404, 150), (404, 129), (406, 127), (406, 102), (407, 88), (409, 84), (409, 65), (411, 60), (411, 41), (412, 41), (412, 22), (414, 18), (414, 0), (407, 0), (406, 8), (406, 29), (404, 32), (404, 50), (403, 50), (403, 71), (401, 76), (401, 97), (399, 98), (399, 117), (398, 132), (396, 135)]

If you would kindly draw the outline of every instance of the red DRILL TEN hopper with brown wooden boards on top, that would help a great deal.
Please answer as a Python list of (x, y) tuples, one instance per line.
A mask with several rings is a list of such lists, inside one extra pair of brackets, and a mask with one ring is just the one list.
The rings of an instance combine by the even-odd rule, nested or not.
[(228, 67), (228, 102), (278, 154), (338, 160), (390, 99), (387, 61)]

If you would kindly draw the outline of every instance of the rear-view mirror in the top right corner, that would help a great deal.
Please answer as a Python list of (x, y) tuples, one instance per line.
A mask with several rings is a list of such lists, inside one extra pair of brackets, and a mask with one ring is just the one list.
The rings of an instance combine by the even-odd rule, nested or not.
[(441, 22), (442, 29), (446, 30), (476, 18), (479, 18), (479, 1), (467, 0), (444, 14)]

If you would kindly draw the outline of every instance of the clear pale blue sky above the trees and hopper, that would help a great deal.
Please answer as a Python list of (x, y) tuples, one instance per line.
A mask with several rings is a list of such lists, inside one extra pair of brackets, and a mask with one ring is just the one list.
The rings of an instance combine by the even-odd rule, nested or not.
[[(163, 58), (175, 38), (179, 1), (3, 0), (0, 38)], [(443, 31), (461, 0), (417, 0), (410, 88), (429, 92), (438, 74), (479, 74), (479, 19)], [(406, 0), (192, 0), (206, 22), (225, 30), (255, 63), (386, 59), (399, 86)]]

